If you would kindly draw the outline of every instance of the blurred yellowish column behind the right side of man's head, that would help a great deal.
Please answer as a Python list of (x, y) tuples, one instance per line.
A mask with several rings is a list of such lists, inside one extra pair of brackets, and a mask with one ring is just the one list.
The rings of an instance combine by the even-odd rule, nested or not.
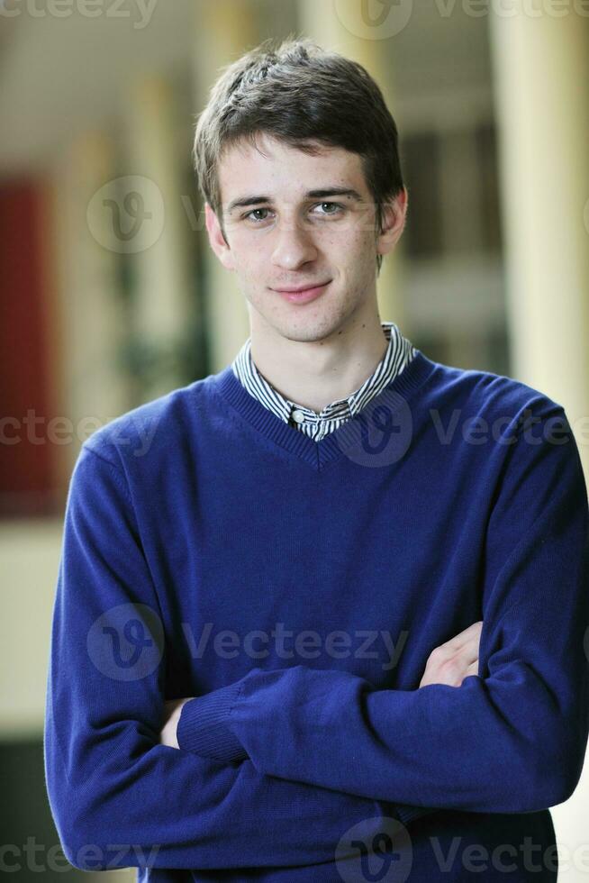
[[(317, 41), (322, 49), (339, 52), (366, 68), (380, 86), (386, 105), (394, 116), (389, 59), (394, 33), (401, 29), (399, 12), (404, 12), (395, 11), (390, 5), (378, 6), (378, 14), (371, 18), (368, 17), (371, 10), (358, 0), (334, 0), (329, 3), (300, 0), (299, 22), (304, 36)], [(345, 96), (342, 96), (342, 100), (345, 100)], [(403, 333), (410, 336), (403, 314), (400, 244), (385, 255), (376, 289), (382, 321), (396, 323)]]

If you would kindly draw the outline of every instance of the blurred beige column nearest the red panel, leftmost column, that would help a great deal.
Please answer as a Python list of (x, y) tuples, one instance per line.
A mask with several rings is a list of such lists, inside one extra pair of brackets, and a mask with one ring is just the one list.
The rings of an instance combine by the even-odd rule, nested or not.
[[(101, 132), (88, 132), (73, 143), (52, 182), (62, 346), (59, 371), (63, 416), (73, 424), (73, 443), (63, 445), (68, 472), (86, 437), (128, 407), (118, 361), (123, 328), (116, 253), (105, 247), (106, 216), (97, 215), (89, 223), (87, 214), (113, 174), (112, 142)], [(65, 432), (60, 431), (60, 436), (65, 439)]]

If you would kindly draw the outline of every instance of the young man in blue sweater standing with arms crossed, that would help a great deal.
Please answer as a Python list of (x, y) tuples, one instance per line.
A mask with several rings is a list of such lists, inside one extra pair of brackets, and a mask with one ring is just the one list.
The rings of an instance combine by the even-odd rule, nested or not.
[(379, 320), (407, 193), (364, 68), (252, 50), (195, 159), (251, 335), (77, 461), (45, 729), (68, 859), (151, 881), (556, 880), (548, 807), (589, 713), (562, 406)]

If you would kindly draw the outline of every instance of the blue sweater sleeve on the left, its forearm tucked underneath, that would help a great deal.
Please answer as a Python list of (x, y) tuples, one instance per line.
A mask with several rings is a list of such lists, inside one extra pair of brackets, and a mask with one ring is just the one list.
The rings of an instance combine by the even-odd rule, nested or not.
[(69, 862), (225, 869), (332, 861), (372, 798), (273, 778), (159, 742), (165, 640), (119, 466), (83, 447), (68, 492), (44, 726), (50, 808)]

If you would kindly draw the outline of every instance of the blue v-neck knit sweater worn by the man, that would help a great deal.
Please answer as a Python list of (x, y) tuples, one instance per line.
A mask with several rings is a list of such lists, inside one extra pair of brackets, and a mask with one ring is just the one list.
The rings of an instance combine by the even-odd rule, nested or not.
[[(418, 350), (321, 442), (231, 367), (124, 414), (78, 457), (53, 612), (68, 860), (159, 883), (555, 880), (588, 563), (566, 414), (511, 378)], [(420, 688), (479, 620), (478, 673)], [(178, 751), (159, 733), (186, 696)]]

